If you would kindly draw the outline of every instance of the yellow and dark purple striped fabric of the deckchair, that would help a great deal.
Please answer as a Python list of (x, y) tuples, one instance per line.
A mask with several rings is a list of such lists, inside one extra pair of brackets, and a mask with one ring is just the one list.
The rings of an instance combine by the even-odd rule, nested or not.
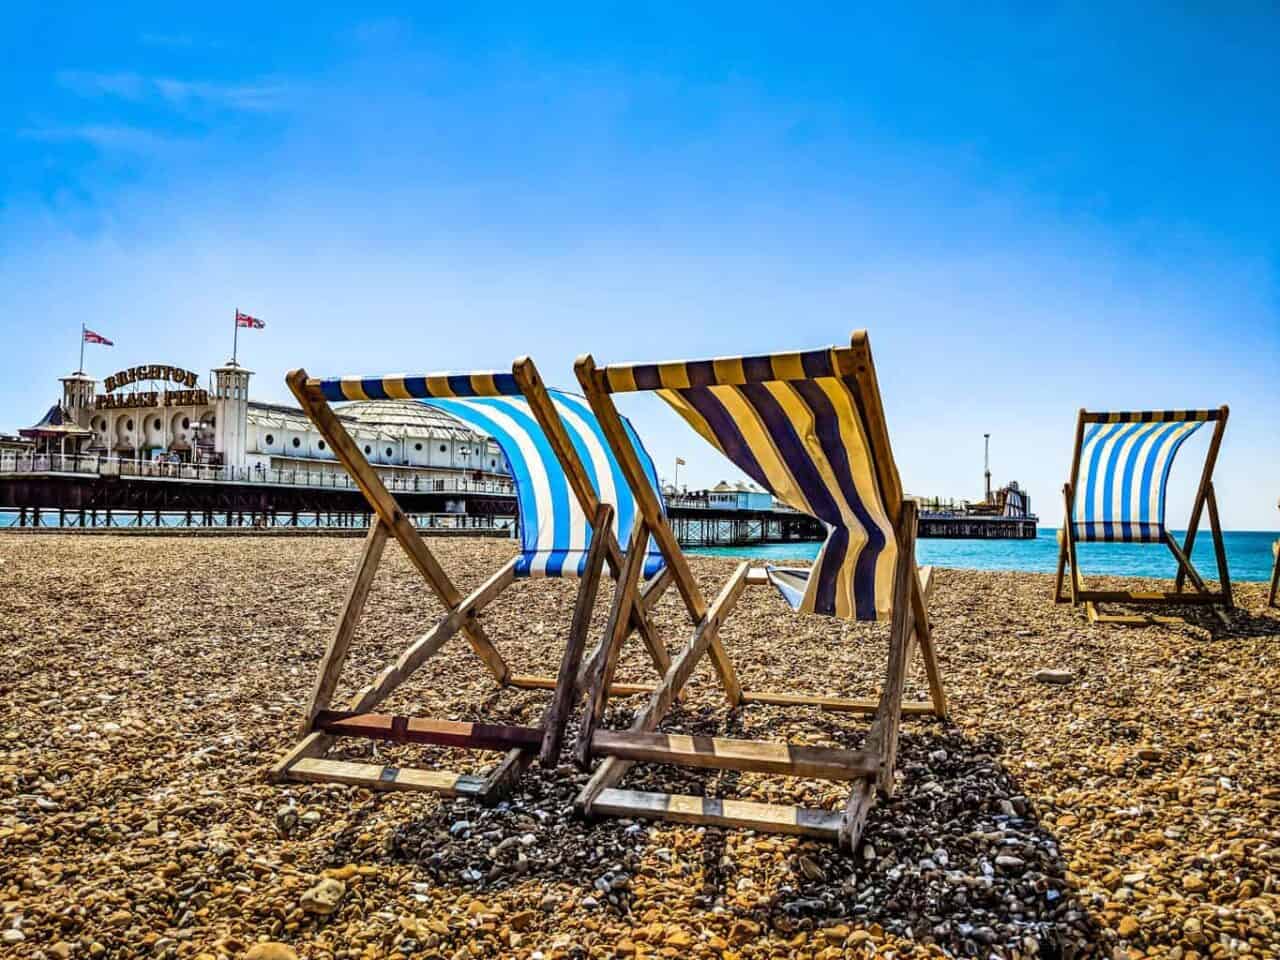
[(812, 570), (769, 568), (792, 608), (887, 620), (897, 544), (852, 378), (833, 348), (608, 367), (620, 390), (655, 390), (760, 486), (827, 526)]

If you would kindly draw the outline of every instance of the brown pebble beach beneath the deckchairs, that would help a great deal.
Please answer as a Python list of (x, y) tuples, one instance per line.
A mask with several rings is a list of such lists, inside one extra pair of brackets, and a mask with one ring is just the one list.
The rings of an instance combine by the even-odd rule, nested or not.
[[(431, 547), (463, 590), (512, 550)], [(1280, 955), (1280, 612), (1265, 609), (1265, 585), (1236, 585), (1230, 628), (1201, 611), (1190, 626), (1125, 628), (1055, 607), (1050, 577), (938, 571), (954, 724), (905, 722), (901, 787), (872, 814), (868, 859), (790, 837), (588, 824), (568, 810), (581, 774), (567, 767), (535, 768), (499, 810), (268, 785), (358, 550), (329, 538), (0, 536), (0, 954), (216, 956), (270, 937), (302, 956)], [(733, 567), (692, 563), (708, 595)], [(522, 582), (485, 612), (516, 669), (554, 673), (573, 589)], [(440, 612), (389, 547), (338, 701)], [(605, 614), (602, 598), (593, 637)], [(675, 652), (687, 637), (675, 590), (657, 621)], [(883, 626), (796, 617), (767, 589), (748, 590), (723, 640), (748, 689), (869, 696), (883, 676)], [(1039, 684), (1041, 667), (1076, 678)], [(652, 676), (632, 639), (620, 678)], [(908, 696), (924, 695), (915, 664)], [(547, 700), (495, 692), (458, 639), (384, 709), (536, 723)], [(611, 724), (639, 703), (617, 704)], [(808, 709), (728, 716), (704, 664), (664, 728), (856, 746), (865, 727)], [(495, 759), (342, 748), (375, 750), (458, 771)], [(659, 767), (626, 785), (832, 808), (846, 795)], [(282, 804), (302, 814), (287, 838)], [(508, 835), (534, 842), (495, 851)], [(961, 883), (989, 869), (1002, 836), (1028, 872), (995, 870), (993, 893)], [(947, 844), (950, 863), (936, 863)], [(347, 893), (316, 919), (298, 897), (326, 868), (346, 868)], [(620, 874), (628, 882), (608, 890)]]

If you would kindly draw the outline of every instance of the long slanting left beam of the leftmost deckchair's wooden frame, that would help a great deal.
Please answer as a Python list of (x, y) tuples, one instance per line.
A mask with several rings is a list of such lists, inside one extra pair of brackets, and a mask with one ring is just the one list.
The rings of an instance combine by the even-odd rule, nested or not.
[[(365, 494), (365, 499), (390, 529), (399, 545), (404, 549), (404, 553), (408, 554), (410, 561), (412, 561), (413, 566), (422, 575), (422, 579), (426, 580), (428, 585), (445, 607), (457, 607), (462, 600), (462, 594), (453, 585), (453, 581), (444, 572), (435, 556), (428, 549), (417, 529), (404, 516), (403, 511), (401, 511), (399, 504), (396, 503), (396, 498), (383, 485), (378, 472), (365, 460), (364, 453), (360, 452), (355, 440), (351, 439), (347, 429), (338, 420), (338, 416), (333, 412), (333, 408), (319, 388), (308, 387), (306, 370), (292, 371), (285, 378), (285, 381), (289, 384), (289, 389), (293, 392), (303, 412), (306, 412), (311, 422), (316, 425), (316, 429), (329, 442), (329, 448), (334, 456), (347, 467), (347, 472), (356, 481), (361, 493)], [(494, 680), (504, 684), (509, 673), (507, 663), (489, 641), (489, 637), (485, 636), (480, 623), (467, 623), (463, 634), (471, 648), (476, 652), (476, 655), (484, 660), (489, 672), (493, 673)]]

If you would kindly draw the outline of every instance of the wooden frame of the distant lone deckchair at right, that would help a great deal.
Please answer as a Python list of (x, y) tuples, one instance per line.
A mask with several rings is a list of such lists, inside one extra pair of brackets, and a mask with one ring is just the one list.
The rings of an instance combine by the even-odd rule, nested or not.
[[(1181, 617), (1158, 616), (1155, 613), (1103, 613), (1098, 609), (1100, 603), (1124, 603), (1140, 607), (1161, 607), (1172, 604), (1210, 604), (1215, 607), (1215, 613), (1224, 621), (1226, 614), (1222, 608), (1234, 607), (1231, 598), (1231, 575), (1226, 567), (1226, 547), (1222, 543), (1222, 527), (1217, 517), (1217, 497), (1213, 493), (1213, 467), (1217, 463), (1217, 452), (1222, 445), (1222, 434), (1226, 430), (1226, 417), (1229, 413), (1226, 404), (1219, 407), (1219, 416), (1213, 421), (1213, 434), (1210, 439), (1208, 452), (1204, 454), (1204, 467), (1201, 471), (1199, 486), (1196, 489), (1196, 499), (1192, 503), (1192, 516), (1187, 524), (1187, 540), (1181, 547), (1174, 535), (1166, 529), (1161, 543), (1174, 556), (1178, 563), (1178, 577), (1174, 581), (1172, 591), (1162, 590), (1088, 590), (1084, 586), (1084, 577), (1075, 558), (1076, 532), (1075, 532), (1075, 493), (1080, 475), (1080, 457), (1084, 445), (1084, 428), (1087, 424), (1112, 422), (1115, 417), (1128, 417), (1129, 413), (1114, 413), (1102, 411), (1080, 410), (1075, 421), (1075, 449), (1071, 454), (1071, 474), (1062, 486), (1062, 503), (1066, 515), (1062, 521), (1062, 535), (1057, 550), (1057, 577), (1053, 585), (1053, 603), (1070, 603), (1073, 607), (1084, 604), (1085, 614), (1093, 623), (1181, 623)], [(1208, 508), (1210, 531), (1213, 536), (1213, 553), (1217, 559), (1219, 589), (1212, 591), (1204, 582), (1192, 563), (1192, 549), (1196, 547), (1196, 532), (1199, 527), (1201, 515)], [(1062, 591), (1066, 580), (1066, 571), (1070, 570), (1070, 590)], [(1196, 593), (1184, 593), (1183, 586), (1187, 580), (1192, 581)]]

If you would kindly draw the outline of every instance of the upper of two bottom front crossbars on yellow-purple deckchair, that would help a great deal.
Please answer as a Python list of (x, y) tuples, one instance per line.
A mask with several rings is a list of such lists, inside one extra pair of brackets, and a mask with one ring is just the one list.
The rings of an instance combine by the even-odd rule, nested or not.
[(878, 756), (859, 750), (684, 733), (604, 730), (591, 739), (591, 751), (634, 762), (818, 780), (855, 780), (879, 769)]

